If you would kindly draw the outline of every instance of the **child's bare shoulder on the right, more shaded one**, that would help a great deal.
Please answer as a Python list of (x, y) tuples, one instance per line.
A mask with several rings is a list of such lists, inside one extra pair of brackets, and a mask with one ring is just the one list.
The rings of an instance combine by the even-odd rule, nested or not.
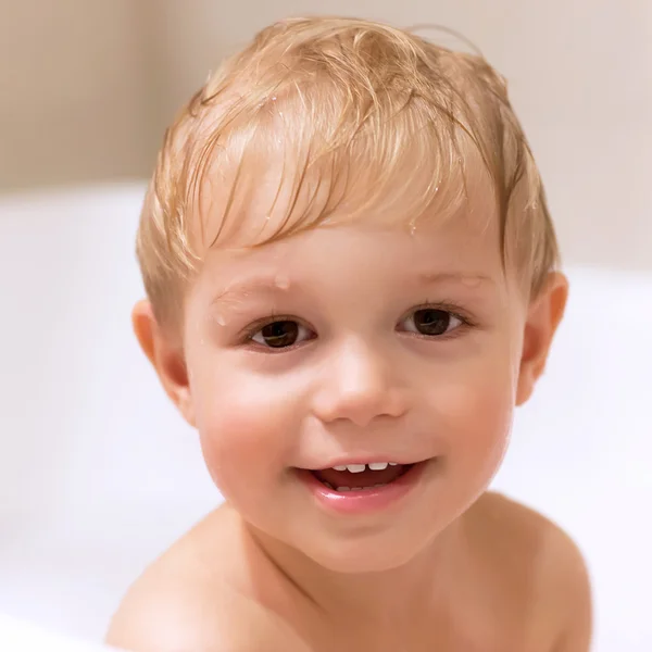
[(531, 603), (535, 627), (552, 632), (555, 652), (588, 651), (591, 588), (575, 541), (543, 515), (499, 493), (478, 501), (475, 521), (496, 567), (506, 569), (516, 594)]

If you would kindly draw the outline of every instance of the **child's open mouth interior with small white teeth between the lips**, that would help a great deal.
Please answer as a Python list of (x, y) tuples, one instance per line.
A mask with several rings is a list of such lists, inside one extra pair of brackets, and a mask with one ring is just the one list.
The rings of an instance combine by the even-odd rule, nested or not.
[(371, 462), (347, 464), (331, 468), (311, 471), (325, 487), (338, 493), (347, 491), (371, 491), (391, 485), (416, 466), (424, 464), (398, 464), (394, 462)]

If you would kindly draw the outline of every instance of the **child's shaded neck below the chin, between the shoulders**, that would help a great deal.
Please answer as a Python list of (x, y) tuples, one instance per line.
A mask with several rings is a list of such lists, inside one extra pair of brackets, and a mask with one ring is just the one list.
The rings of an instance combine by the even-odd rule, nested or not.
[(374, 573), (338, 573), (243, 524), (247, 536), (281, 577), (334, 623), (414, 623), (446, 603), (465, 536), (461, 519), (405, 564)]

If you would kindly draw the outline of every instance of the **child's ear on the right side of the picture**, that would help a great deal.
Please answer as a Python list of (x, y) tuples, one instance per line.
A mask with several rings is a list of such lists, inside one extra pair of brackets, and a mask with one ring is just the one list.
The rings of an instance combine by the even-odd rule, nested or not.
[(537, 379), (546, 368), (550, 344), (564, 316), (567, 298), (568, 279), (559, 272), (551, 272), (543, 289), (528, 308), (516, 390), (517, 405), (530, 398)]

